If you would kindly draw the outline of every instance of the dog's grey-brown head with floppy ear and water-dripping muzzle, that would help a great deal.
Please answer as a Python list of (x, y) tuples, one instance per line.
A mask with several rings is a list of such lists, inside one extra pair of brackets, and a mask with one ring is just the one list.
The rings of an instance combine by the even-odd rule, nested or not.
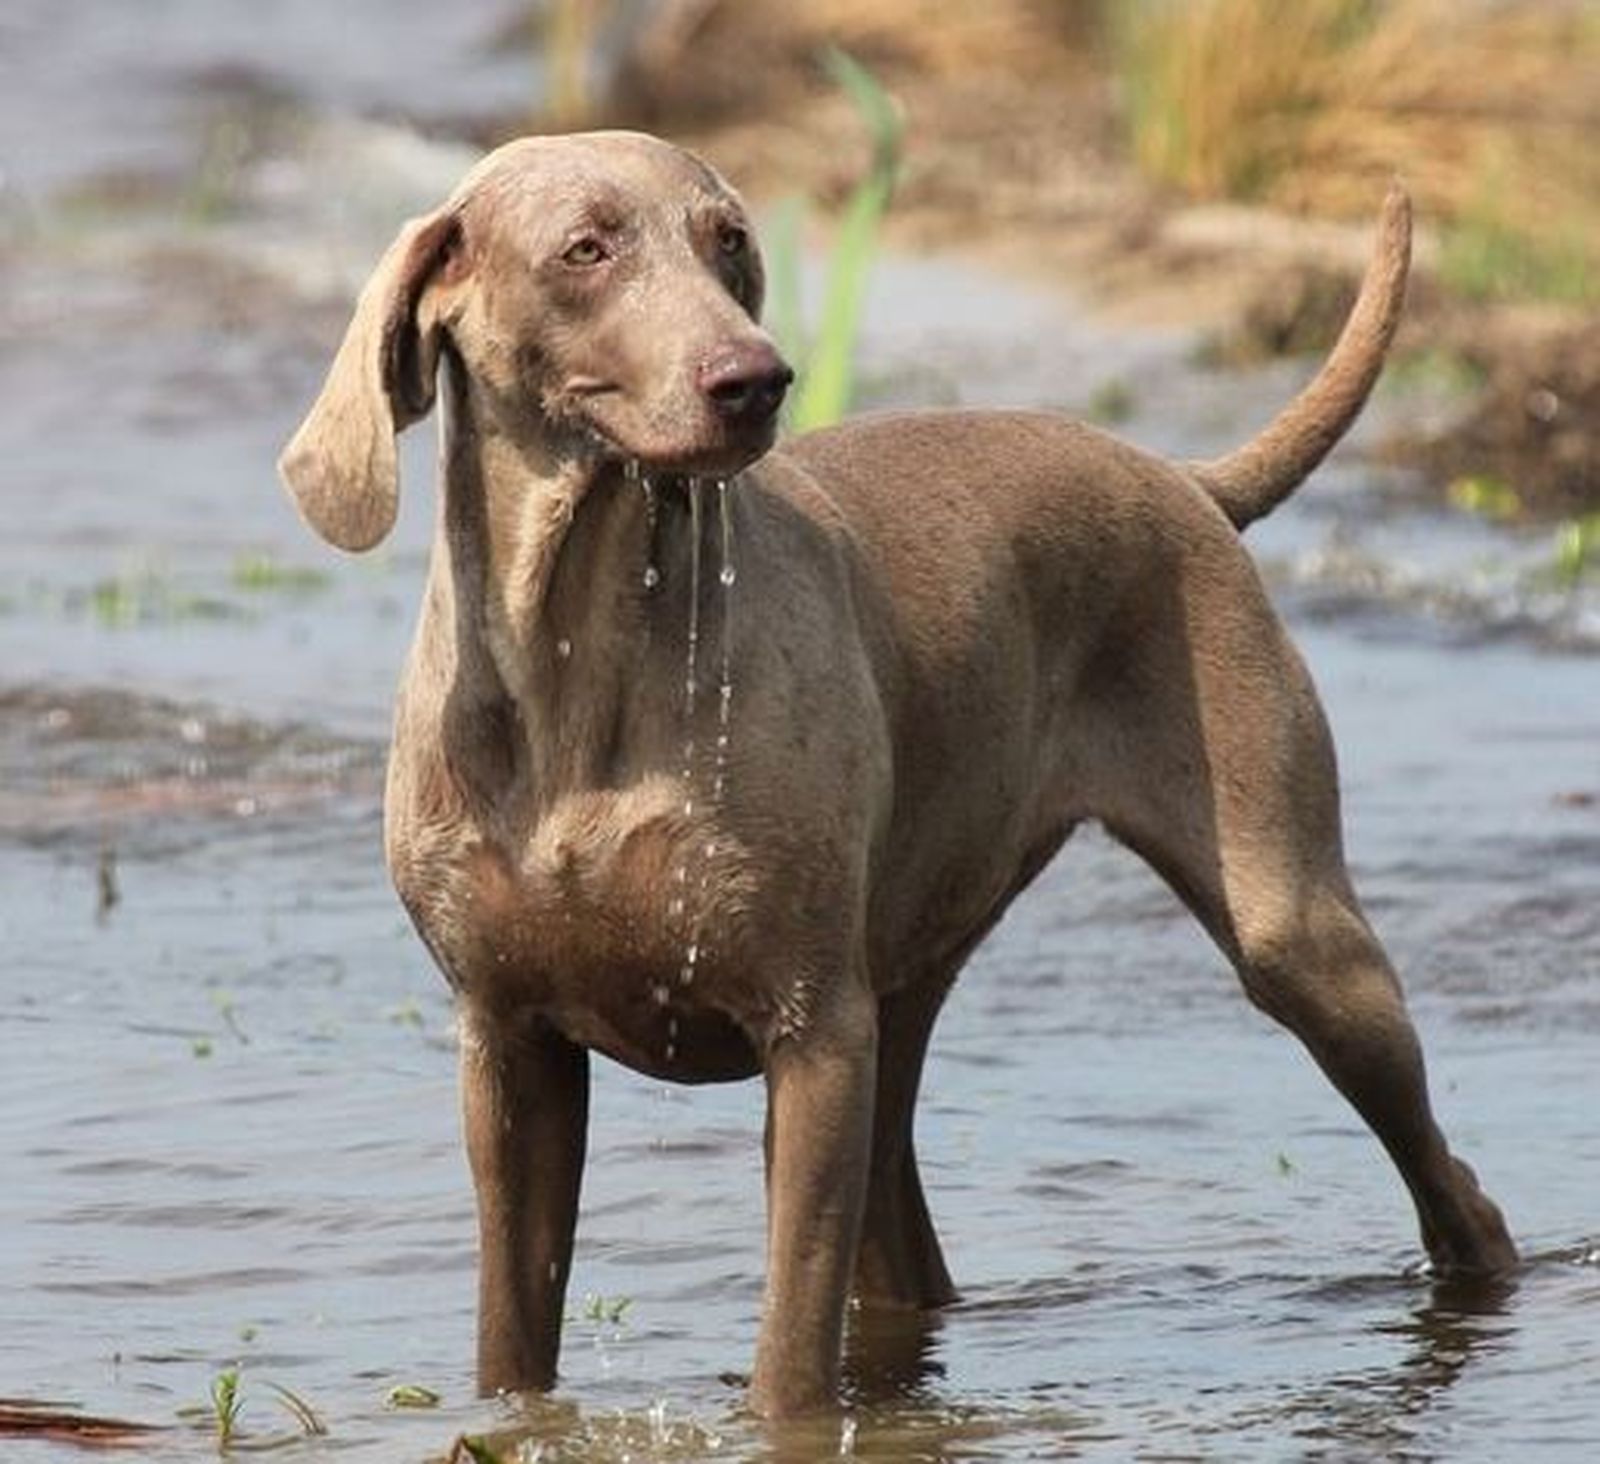
[(429, 413), (450, 354), (490, 430), (736, 472), (771, 446), (790, 381), (762, 291), (744, 205), (699, 158), (638, 133), (507, 144), (400, 230), (280, 470), (325, 539), (376, 544), (395, 435)]

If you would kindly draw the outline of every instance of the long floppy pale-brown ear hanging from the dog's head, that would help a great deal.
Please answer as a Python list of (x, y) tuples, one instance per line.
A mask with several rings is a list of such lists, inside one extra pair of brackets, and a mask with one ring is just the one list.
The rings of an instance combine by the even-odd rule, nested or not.
[(395, 435), (427, 416), (438, 374), (429, 282), (461, 246), (454, 213), (411, 219), (362, 290), (322, 394), (278, 458), (306, 522), (339, 549), (371, 549), (400, 506)]

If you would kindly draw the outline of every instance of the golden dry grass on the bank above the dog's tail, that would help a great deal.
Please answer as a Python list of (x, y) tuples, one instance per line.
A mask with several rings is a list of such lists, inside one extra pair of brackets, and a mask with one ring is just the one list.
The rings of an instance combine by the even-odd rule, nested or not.
[(1600, 291), (1592, 3), (1138, 0), (1118, 13), (1150, 176), (1195, 197), (1362, 214), (1400, 173), (1424, 211), (1475, 232), (1458, 253), (1469, 272)]

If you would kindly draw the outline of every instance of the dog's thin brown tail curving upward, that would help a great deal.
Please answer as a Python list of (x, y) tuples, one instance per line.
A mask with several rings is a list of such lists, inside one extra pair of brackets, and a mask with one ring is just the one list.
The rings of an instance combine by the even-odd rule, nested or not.
[(1355, 421), (1400, 323), (1410, 262), (1411, 198), (1392, 182), (1355, 307), (1317, 378), (1242, 448), (1187, 464), (1235, 528), (1283, 502)]

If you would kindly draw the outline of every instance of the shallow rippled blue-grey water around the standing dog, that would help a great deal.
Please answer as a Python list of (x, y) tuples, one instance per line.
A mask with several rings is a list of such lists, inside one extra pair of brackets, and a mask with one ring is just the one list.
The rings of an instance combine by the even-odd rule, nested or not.
[[(1397, 509), (1352, 458), (1251, 542), (1328, 702), (1442, 1117), (1531, 1258), (1515, 1286), (1416, 1275), (1376, 1146), (1085, 835), (941, 1026), (920, 1146), (963, 1299), (859, 1318), (848, 1437), (758, 1434), (725, 1376), (760, 1301), (758, 1088), (610, 1066), (562, 1387), (475, 1402), (451, 1014), (379, 851), (432, 446), (411, 435), (400, 531), (365, 560), (317, 549), (270, 464), (360, 270), (461, 166), (373, 117), (504, 102), (504, 13), (389, 3), (405, 24), (357, 56), (301, 29), (317, 6), (170, 3), (128, 62), (125, 8), (70, 45), (67, 10), (0, 26), (0, 1398), (171, 1426), (176, 1459), (214, 1456), (178, 1413), (235, 1360), (258, 1442), (293, 1430), (272, 1382), (323, 1414), (302, 1459), (493, 1429), (541, 1459), (1589, 1458), (1595, 603), (1539, 587), (1542, 542)], [(202, 197), (218, 128), (237, 157)], [(1296, 379), (1198, 376), (1181, 333), (947, 264), (878, 283), (885, 402), (1075, 406), (1115, 378), (1122, 430), (1203, 453)], [(402, 1382), (442, 1406), (387, 1406)]]

